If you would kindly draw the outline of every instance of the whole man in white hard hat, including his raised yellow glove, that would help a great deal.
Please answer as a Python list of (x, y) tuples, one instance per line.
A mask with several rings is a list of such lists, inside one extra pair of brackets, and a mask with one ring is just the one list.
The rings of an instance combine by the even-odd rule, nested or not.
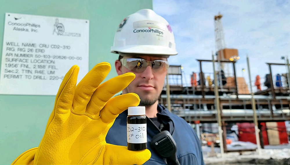
[[(102, 62), (76, 86), (79, 68), (73, 66), (61, 83), (41, 143), (12, 164), (204, 164), (195, 131), (158, 104), (167, 58), (177, 55), (169, 23), (153, 10), (139, 10), (119, 25), (111, 52), (119, 55), (118, 76), (101, 84), (110, 71), (110, 64)], [(129, 151), (127, 108), (138, 105), (146, 107), (148, 149)], [(151, 144), (166, 131), (176, 143), (171, 159)]]

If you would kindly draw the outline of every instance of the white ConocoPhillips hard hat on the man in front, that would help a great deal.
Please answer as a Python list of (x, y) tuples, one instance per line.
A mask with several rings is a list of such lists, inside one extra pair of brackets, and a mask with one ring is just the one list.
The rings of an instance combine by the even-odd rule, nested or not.
[(169, 23), (151, 9), (129, 15), (119, 25), (111, 47), (112, 53), (177, 55)]

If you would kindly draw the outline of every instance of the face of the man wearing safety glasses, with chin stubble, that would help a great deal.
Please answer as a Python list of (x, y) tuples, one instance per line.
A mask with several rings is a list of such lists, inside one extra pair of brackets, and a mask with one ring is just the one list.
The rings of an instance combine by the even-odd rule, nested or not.
[[(124, 57), (126, 59), (129, 58), (141, 58), (147, 61), (153, 60), (164, 60), (167, 61), (166, 58), (161, 57), (152, 57), (152, 56), (141, 56), (141, 57)], [(146, 61), (137, 63), (137, 66), (143, 65), (146, 66)], [(157, 62), (155, 64), (158, 65)], [(115, 62), (115, 67), (118, 75), (122, 75), (124, 73), (132, 72), (136, 75), (136, 78), (128, 85), (128, 87), (124, 90), (126, 93), (136, 93), (139, 95), (141, 101), (141, 106), (149, 106), (153, 105), (159, 98), (162, 88), (164, 86), (165, 76), (167, 74), (167, 69), (160, 69), (159, 71), (153, 71), (151, 68), (152, 63), (146, 67), (146, 69), (142, 73), (138, 73), (136, 70), (129, 70), (124, 65), (121, 64), (119, 60)], [(156, 67), (153, 64), (153, 68)]]

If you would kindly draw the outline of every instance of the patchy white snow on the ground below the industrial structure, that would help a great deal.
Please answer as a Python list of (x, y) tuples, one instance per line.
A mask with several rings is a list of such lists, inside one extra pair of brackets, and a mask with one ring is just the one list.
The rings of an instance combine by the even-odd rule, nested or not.
[[(251, 149), (252, 147), (256, 147), (256, 144), (250, 144), (249, 142), (240, 142), (240, 144), (232, 143), (231, 146), (228, 146), (228, 149), (242, 149), (247, 148)], [(281, 147), (282, 146), (282, 147)], [(260, 155), (258, 154), (258, 150), (256, 151), (247, 151), (243, 152), (242, 155), (238, 152), (230, 152), (224, 153), (224, 157), (221, 157), (220, 148), (215, 148), (215, 152), (217, 154), (216, 157), (209, 157), (209, 153), (211, 152), (211, 148), (207, 146), (202, 146), (204, 162), (208, 163), (218, 163), (218, 162), (232, 162), (238, 160), (245, 159), (284, 159), (290, 157), (290, 144), (280, 145), (280, 146), (267, 146), (266, 149), (261, 149)], [(267, 149), (268, 148), (268, 149)], [(279, 148), (279, 149), (274, 149)]]

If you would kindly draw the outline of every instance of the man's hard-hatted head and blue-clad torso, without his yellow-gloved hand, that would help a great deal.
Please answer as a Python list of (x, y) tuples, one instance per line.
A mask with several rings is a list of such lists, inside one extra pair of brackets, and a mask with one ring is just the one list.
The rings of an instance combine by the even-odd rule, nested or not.
[[(136, 75), (122, 94), (138, 94), (139, 106), (146, 107), (147, 146), (152, 156), (145, 164), (169, 163), (150, 145), (151, 139), (164, 130), (172, 134), (177, 144), (176, 154), (180, 164), (204, 164), (195, 131), (184, 119), (158, 104), (169, 67), (167, 58), (177, 54), (169, 23), (149, 9), (139, 10), (125, 18), (125, 21), (115, 34), (111, 52), (119, 54), (119, 59), (115, 62), (118, 75), (130, 72)], [(127, 146), (127, 115), (128, 112), (124, 111), (116, 118), (108, 131), (106, 142)]]

